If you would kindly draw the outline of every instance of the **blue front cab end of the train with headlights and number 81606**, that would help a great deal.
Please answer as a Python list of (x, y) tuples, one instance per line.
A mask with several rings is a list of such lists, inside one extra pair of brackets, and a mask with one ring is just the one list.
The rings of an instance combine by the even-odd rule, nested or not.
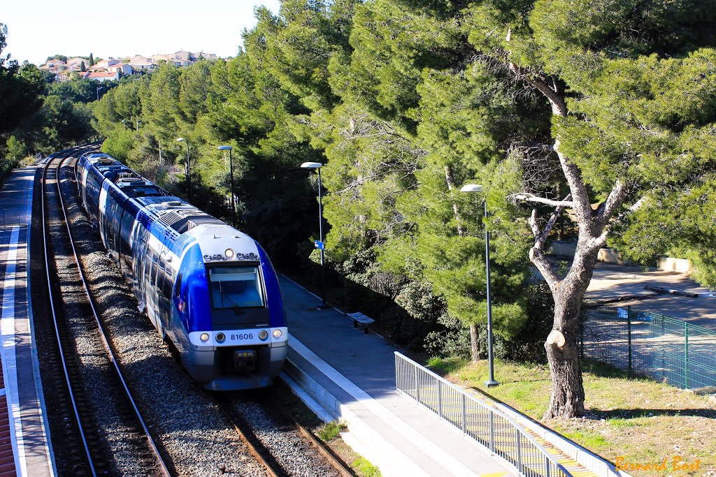
[[(185, 368), (211, 390), (271, 385), (288, 351), (284, 303), (271, 263), (202, 262), (200, 247), (192, 247), (173, 293), (172, 322), (189, 330), (183, 336), (170, 332), (183, 348)], [(185, 267), (199, 263), (193, 270)]]

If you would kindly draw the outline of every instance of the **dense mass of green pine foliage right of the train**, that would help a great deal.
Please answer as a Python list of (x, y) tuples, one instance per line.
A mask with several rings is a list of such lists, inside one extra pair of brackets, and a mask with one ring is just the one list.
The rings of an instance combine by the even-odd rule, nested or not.
[[(697, 220), (716, 214), (715, 12), (691, 0), (286, 0), (256, 10), (235, 58), (123, 80), (93, 124), (105, 150), (180, 195), (189, 144), (194, 202), (226, 219), (233, 175), (238, 227), (309, 275), (319, 185), (299, 164), (326, 164), (332, 281), (394, 339), (435, 354), (464, 355), (468, 325), (484, 330), (487, 227), (497, 346), (542, 360), (551, 294), (528, 284), (533, 235), (509, 197), (565, 195), (555, 139), (591, 202), (618, 179), (629, 204), (646, 197), (619, 210), (620, 249), (650, 260), (678, 248), (716, 270), (716, 221)], [(553, 114), (537, 80), (569, 114)], [(231, 171), (219, 144), (234, 147)], [(459, 192), (468, 183), (483, 194)]]

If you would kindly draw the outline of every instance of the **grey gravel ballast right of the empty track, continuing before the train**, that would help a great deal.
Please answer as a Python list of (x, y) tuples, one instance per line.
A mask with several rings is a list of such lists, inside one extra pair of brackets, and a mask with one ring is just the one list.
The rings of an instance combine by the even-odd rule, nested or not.
[[(208, 393), (180, 366), (130, 292), (115, 262), (77, 199), (72, 165), (62, 172), (68, 218), (90, 292), (102, 317), (127, 385), (147, 426), (179, 476), (265, 476), (231, 423)], [(271, 392), (270, 390), (267, 392)], [(253, 434), (274, 454), (290, 476), (326, 476), (333, 472), (306, 442), (277, 425), (252, 393), (231, 393)]]

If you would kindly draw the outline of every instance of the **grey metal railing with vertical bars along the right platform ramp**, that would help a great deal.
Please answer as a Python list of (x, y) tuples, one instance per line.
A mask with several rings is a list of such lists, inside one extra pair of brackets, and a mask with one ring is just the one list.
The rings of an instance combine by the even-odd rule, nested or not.
[(395, 352), (395, 388), (511, 463), (526, 477), (571, 473), (510, 416)]

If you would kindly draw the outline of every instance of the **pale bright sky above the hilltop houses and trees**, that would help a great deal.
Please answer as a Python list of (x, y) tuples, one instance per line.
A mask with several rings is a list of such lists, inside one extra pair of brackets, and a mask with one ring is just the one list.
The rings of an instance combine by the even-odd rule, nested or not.
[(241, 32), (256, 24), (253, 8), (279, 10), (279, 0), (6, 0), (2, 56), (37, 66), (47, 56), (121, 58), (175, 51), (235, 56)]

